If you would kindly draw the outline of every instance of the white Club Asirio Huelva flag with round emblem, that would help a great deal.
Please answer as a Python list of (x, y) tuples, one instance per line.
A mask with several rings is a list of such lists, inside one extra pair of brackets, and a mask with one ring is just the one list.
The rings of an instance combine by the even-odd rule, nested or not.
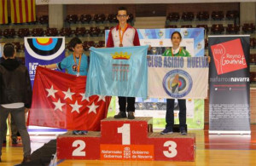
[(148, 96), (206, 99), (208, 72), (207, 57), (149, 56)]

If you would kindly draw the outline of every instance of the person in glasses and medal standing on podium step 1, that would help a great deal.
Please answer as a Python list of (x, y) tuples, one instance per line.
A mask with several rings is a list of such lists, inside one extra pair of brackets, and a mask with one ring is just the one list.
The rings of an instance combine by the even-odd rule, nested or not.
[[(109, 31), (107, 48), (140, 46), (137, 30), (127, 23), (129, 15), (125, 7), (118, 9), (117, 19), (119, 24)], [(119, 113), (114, 118), (127, 117), (126, 111), (128, 112), (128, 119), (135, 118), (135, 97), (119, 96)]]

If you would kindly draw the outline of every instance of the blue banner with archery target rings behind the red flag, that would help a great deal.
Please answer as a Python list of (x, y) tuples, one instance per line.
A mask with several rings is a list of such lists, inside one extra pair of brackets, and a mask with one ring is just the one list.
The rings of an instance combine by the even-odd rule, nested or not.
[(65, 37), (25, 37), (25, 64), (32, 85), (39, 65), (49, 65), (65, 58)]

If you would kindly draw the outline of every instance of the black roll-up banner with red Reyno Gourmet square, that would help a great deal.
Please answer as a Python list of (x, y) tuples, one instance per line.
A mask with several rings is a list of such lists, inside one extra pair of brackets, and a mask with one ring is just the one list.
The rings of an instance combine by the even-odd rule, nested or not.
[(210, 134), (250, 134), (250, 36), (209, 36)]

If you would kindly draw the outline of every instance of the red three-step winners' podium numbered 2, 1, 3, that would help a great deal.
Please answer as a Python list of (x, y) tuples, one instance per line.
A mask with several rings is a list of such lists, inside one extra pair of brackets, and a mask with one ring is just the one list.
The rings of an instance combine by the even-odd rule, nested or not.
[(133, 120), (113, 117), (101, 121), (101, 132), (67, 132), (57, 137), (59, 159), (194, 161), (195, 134), (160, 135), (152, 117)]

